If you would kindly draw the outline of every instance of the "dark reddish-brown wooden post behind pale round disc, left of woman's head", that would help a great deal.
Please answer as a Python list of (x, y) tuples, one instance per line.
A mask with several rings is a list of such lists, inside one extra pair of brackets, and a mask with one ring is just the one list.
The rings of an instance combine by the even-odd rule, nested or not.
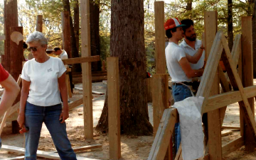
[[(22, 27), (11, 27), (10, 33), (19, 32), (23, 34)], [(10, 40), (10, 55), (11, 55), (11, 76), (17, 81), (18, 76), (22, 71), (22, 61), (23, 61), (23, 40), (21, 40), (18, 45), (16, 42)]]

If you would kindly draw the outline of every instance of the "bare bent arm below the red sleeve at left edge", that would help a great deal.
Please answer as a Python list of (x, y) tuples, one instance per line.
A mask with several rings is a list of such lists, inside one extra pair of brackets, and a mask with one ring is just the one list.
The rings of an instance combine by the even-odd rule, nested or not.
[(20, 88), (18, 84), (16, 83), (15, 79), (9, 74), (8, 78), (4, 81), (0, 82), (1, 86), (4, 87), (4, 93), (1, 97), (1, 103), (0, 103), (0, 116), (4, 115), (6, 110), (13, 105), (14, 101), (16, 100), (16, 97), (18, 96), (18, 93), (20, 91)]

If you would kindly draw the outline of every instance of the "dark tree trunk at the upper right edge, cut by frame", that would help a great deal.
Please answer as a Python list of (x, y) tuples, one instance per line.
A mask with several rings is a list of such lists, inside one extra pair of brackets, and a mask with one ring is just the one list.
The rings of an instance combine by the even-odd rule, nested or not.
[(256, 78), (256, 0), (253, 4), (252, 14), (252, 55), (253, 55), (253, 78)]

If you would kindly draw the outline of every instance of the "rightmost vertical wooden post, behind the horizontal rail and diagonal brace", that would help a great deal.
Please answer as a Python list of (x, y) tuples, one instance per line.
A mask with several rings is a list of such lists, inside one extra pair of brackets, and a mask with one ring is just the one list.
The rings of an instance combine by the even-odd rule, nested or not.
[[(253, 85), (253, 68), (252, 68), (252, 17), (242, 17), (242, 85)], [(255, 114), (255, 107), (253, 98), (248, 98), (250, 108), (253, 115)], [(245, 132), (245, 150), (247, 152), (253, 152), (255, 147), (253, 146), (254, 139), (250, 128), (247, 127), (244, 122)]]

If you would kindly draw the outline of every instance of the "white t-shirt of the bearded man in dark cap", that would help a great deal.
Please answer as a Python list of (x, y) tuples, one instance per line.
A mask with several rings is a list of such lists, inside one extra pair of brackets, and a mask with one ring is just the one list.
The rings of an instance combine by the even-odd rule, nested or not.
[[(179, 46), (181, 46), (183, 48), (183, 50), (185, 50), (186, 54), (193, 56), (196, 54), (196, 52), (198, 52), (201, 45), (202, 45), (201, 40), (196, 40), (196, 43), (195, 43), (196, 50), (195, 50), (195, 49), (193, 49), (193, 47), (189, 46), (185, 40), (183, 40)], [(191, 65), (191, 69), (203, 68), (204, 59), (205, 59), (205, 52), (203, 51), (201, 58), (198, 60), (198, 62), (196, 64), (189, 63)]]

